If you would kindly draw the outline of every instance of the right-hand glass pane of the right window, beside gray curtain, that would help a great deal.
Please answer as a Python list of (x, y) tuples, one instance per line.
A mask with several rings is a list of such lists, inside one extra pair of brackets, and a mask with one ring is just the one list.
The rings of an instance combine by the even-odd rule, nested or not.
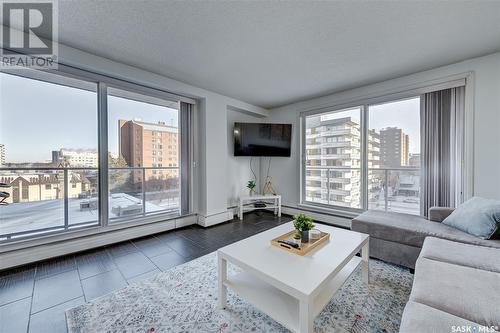
[(420, 98), (368, 107), (368, 209), (420, 214)]

